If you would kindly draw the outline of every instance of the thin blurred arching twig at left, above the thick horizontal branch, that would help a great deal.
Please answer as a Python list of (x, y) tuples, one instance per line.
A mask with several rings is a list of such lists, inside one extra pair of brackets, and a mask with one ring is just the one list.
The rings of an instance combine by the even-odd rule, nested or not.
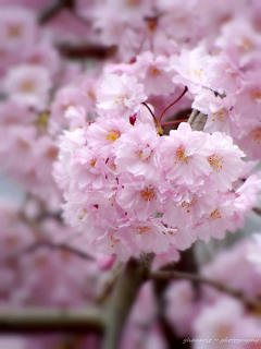
[(90, 255), (90, 254), (88, 254), (86, 252), (79, 251), (79, 250), (77, 250), (75, 248), (72, 248), (72, 246), (65, 244), (65, 243), (53, 243), (51, 241), (35, 242), (32, 245), (23, 249), (20, 252), (4, 257), (3, 261), (5, 262), (7, 260), (18, 258), (24, 254), (33, 253), (33, 252), (35, 252), (35, 251), (37, 251), (39, 249), (42, 249), (42, 248), (48, 248), (50, 250), (62, 250), (62, 251), (66, 251), (66, 252), (70, 252), (72, 254), (75, 254), (78, 257), (87, 260), (87, 261), (91, 261), (91, 262), (96, 261), (96, 258), (92, 255)]

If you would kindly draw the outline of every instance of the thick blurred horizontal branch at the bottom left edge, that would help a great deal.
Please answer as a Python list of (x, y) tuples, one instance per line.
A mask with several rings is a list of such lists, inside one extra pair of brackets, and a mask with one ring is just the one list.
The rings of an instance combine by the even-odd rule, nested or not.
[(103, 318), (98, 310), (15, 310), (0, 312), (1, 334), (102, 333)]

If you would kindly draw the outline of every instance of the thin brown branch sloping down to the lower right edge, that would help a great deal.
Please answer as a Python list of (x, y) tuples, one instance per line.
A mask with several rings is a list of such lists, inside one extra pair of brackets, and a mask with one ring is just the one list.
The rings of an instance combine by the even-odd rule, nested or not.
[(234, 298), (239, 299), (248, 306), (260, 308), (261, 309), (261, 300), (257, 298), (251, 298), (241, 292), (240, 290), (235, 290), (229, 288), (219, 281), (214, 281), (208, 279), (200, 275), (189, 274), (189, 273), (181, 273), (181, 272), (151, 272), (149, 274), (149, 279), (152, 280), (170, 280), (170, 279), (186, 279), (197, 284), (204, 284), (215, 288), (221, 292), (225, 292)]

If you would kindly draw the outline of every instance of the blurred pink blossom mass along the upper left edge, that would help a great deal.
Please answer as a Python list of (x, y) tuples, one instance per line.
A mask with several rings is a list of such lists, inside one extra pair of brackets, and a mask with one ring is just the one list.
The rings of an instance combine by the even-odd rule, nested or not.
[(1, 5), (0, 163), (8, 177), (51, 212), (62, 195), (52, 178), (63, 119), (50, 111), (53, 91), (79, 72), (26, 7)]

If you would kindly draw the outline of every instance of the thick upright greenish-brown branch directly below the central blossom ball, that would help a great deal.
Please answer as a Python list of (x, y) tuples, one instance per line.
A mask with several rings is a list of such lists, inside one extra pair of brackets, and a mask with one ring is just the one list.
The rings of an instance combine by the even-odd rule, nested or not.
[(121, 334), (140, 286), (147, 279), (154, 254), (130, 258), (123, 268), (108, 302), (107, 329), (102, 349), (119, 347)]

